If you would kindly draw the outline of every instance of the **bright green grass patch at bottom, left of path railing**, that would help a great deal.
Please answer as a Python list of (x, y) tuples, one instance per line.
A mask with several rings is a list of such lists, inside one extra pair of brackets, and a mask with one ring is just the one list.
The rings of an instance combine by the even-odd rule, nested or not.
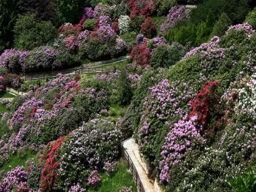
[(103, 173), (101, 176), (100, 185), (96, 189), (89, 188), (88, 192), (119, 192), (122, 186), (131, 187), (133, 192), (137, 192), (135, 182), (123, 160), (117, 164), (117, 171), (113, 175), (108, 177), (106, 173)]

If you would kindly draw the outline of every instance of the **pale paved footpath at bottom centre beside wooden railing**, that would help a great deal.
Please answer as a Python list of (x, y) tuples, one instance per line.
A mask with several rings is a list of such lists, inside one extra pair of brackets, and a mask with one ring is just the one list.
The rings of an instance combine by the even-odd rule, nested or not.
[(150, 183), (150, 180), (148, 179), (148, 175), (146, 174), (145, 170), (143, 169), (141, 164), (139, 164), (139, 161), (137, 160), (137, 158), (135, 158), (135, 155), (133, 154), (133, 150), (131, 147), (131, 141), (132, 141), (132, 139), (127, 139), (126, 141), (124, 141), (123, 148), (129, 154), (129, 157), (131, 158), (131, 160), (139, 174), (139, 178), (141, 179), (141, 183), (142, 183), (145, 191), (146, 192), (155, 192), (153, 184)]

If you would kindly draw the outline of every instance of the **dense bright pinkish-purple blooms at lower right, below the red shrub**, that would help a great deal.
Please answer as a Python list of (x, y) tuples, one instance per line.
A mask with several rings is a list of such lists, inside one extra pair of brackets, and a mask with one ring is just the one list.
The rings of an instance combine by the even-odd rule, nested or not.
[(172, 166), (185, 159), (187, 152), (200, 148), (205, 140), (200, 135), (197, 117), (187, 120), (187, 115), (178, 123), (170, 125), (170, 132), (162, 146), (162, 160), (160, 161), (160, 182), (170, 183)]

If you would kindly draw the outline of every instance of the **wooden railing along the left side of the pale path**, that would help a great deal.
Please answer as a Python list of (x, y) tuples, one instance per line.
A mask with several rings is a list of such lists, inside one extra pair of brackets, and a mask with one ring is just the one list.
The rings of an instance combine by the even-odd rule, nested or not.
[(138, 191), (146, 192), (141, 183), (141, 179), (139, 178), (139, 173), (137, 172), (135, 165), (133, 164), (129, 154), (125, 151), (125, 148), (123, 148), (123, 143), (121, 144), (121, 156), (123, 160), (125, 160), (125, 162), (127, 162), (128, 164), (128, 169), (131, 171), (131, 174), (133, 175), (133, 179), (135, 181)]

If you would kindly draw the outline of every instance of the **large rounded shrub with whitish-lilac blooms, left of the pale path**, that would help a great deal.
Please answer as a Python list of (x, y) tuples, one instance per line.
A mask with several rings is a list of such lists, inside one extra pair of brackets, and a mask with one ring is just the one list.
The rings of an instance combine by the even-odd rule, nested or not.
[[(98, 182), (94, 170), (102, 170), (105, 162), (113, 162), (119, 154), (120, 132), (106, 120), (93, 119), (74, 130), (63, 141), (58, 154), (60, 168), (57, 188), (68, 189), (72, 183), (85, 188)], [(69, 175), (65, 172), (70, 172)], [(95, 177), (94, 177), (95, 176)]]

